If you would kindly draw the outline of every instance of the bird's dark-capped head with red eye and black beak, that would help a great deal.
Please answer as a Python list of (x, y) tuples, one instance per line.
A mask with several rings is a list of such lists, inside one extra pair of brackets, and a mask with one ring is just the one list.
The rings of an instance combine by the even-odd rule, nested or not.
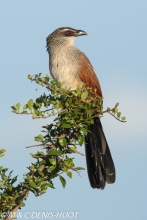
[(87, 35), (87, 33), (70, 27), (58, 28), (46, 38), (47, 50), (49, 51), (49, 48), (53, 46), (73, 45), (75, 39), (82, 35)]

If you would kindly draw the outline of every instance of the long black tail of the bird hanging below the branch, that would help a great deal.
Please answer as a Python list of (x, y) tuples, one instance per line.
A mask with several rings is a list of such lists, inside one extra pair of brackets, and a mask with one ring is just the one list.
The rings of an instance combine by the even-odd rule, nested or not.
[(99, 118), (89, 126), (85, 151), (89, 181), (92, 188), (104, 189), (106, 182), (115, 182), (115, 167)]

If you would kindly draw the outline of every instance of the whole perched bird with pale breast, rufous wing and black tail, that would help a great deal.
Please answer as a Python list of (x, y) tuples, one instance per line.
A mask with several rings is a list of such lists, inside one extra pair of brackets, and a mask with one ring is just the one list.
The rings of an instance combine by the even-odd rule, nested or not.
[[(83, 30), (61, 27), (46, 38), (49, 53), (49, 70), (53, 79), (63, 83), (67, 89), (76, 90), (81, 84), (102, 90), (94, 68), (88, 57), (75, 45), (75, 39), (87, 35)], [(99, 117), (88, 128), (85, 136), (85, 154), (89, 182), (92, 188), (104, 189), (106, 183), (115, 182), (116, 172), (111, 152)]]

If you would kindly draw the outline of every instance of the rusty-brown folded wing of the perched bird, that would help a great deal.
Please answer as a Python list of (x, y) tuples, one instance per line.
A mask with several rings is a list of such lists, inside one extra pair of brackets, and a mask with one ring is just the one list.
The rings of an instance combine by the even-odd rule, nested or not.
[(78, 74), (87, 87), (97, 89), (96, 94), (102, 97), (102, 90), (99, 80), (94, 72), (94, 69), (89, 59), (82, 52), (80, 55), (80, 69), (78, 71)]

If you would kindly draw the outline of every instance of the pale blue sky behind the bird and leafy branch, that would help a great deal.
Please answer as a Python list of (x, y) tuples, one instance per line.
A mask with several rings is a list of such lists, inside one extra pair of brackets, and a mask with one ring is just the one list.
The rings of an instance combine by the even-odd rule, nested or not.
[[(14, 175), (27, 172), (31, 163), (26, 149), (45, 120), (11, 113), (10, 106), (35, 99), (44, 90), (27, 80), (28, 74), (48, 74), (46, 37), (56, 28), (70, 26), (88, 33), (75, 44), (91, 60), (100, 80), (104, 107), (119, 109), (123, 124), (105, 115), (102, 119), (117, 179), (105, 190), (92, 189), (87, 172), (67, 178), (67, 187), (55, 181), (41, 197), (30, 194), (25, 212), (78, 211), (77, 219), (145, 220), (147, 185), (147, 1), (0, 1), (0, 148), (7, 154), (1, 165)], [(38, 89), (36, 91), (36, 88)], [(84, 147), (79, 149), (84, 152)], [(76, 155), (75, 163), (85, 165)], [(25, 218), (22, 218), (25, 219)], [(55, 218), (54, 218), (55, 219)]]

